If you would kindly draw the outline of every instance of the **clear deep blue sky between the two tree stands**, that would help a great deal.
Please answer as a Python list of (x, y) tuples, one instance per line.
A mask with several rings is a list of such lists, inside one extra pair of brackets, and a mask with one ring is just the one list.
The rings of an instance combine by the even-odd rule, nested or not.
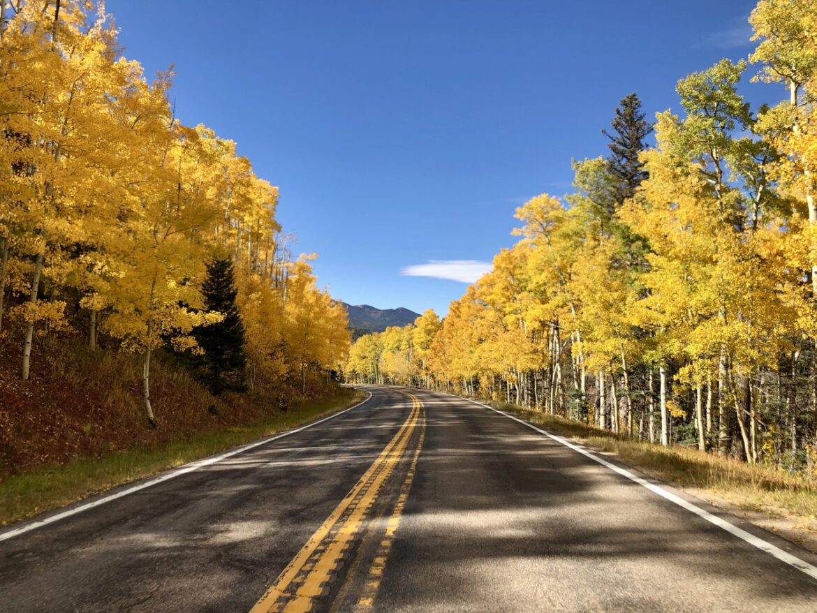
[(280, 187), (279, 221), (296, 253), (319, 253), (320, 284), (440, 315), (466, 285), (404, 267), (489, 262), (514, 243), (516, 206), (565, 194), (571, 158), (606, 154), (623, 96), (650, 118), (678, 110), (678, 78), (747, 56), (754, 5), (107, 2), (127, 57), (148, 75), (176, 66), (181, 120), (237, 141)]

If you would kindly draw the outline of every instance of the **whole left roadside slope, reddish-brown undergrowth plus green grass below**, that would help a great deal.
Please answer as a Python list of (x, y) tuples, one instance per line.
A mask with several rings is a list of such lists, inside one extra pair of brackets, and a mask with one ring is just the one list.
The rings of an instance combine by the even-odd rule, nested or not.
[(316, 382), (310, 397), (282, 387), (216, 398), (159, 352), (151, 377), (154, 429), (141, 404), (138, 356), (92, 351), (80, 339), (41, 339), (24, 382), (17, 340), (7, 330), (0, 336), (0, 523), (306, 423), (362, 397)]

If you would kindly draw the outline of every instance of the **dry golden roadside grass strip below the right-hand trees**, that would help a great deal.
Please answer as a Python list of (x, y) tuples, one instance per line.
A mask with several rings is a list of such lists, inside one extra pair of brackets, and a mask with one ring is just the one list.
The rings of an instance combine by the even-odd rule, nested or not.
[(795, 475), (768, 464), (751, 465), (736, 459), (673, 445), (662, 447), (635, 441), (586, 423), (522, 409), (505, 403), (489, 403), (498, 409), (541, 425), (560, 436), (569, 436), (588, 447), (616, 454), (624, 463), (683, 488), (703, 490), (748, 511), (774, 516), (794, 515), (805, 520), (801, 528), (817, 531), (817, 478)]

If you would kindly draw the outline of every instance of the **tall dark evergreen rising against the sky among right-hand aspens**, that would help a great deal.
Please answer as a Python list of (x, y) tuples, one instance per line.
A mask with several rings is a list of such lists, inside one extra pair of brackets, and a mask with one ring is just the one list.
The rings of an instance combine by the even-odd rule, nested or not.
[(610, 124), (614, 133), (601, 131), (610, 140), (607, 144), (611, 152), (607, 158), (607, 166), (618, 181), (616, 190), (618, 204), (632, 198), (641, 181), (647, 178), (647, 173), (643, 169), (644, 163), (638, 159), (638, 154), (647, 148), (644, 139), (650, 135), (653, 128), (644, 117), (644, 113), (641, 112), (641, 101), (632, 93), (618, 103), (615, 118)]

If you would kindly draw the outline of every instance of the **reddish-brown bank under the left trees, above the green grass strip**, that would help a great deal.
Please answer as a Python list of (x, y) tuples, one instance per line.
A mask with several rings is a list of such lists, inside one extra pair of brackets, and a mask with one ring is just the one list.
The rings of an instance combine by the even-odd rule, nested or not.
[[(0, 335), (0, 479), (43, 465), (162, 445), (279, 410), (285, 392), (215, 398), (172, 356), (151, 364), (158, 428), (141, 404), (139, 356), (83, 345), (80, 338), (36, 339), (29, 381), (20, 379), (23, 335)], [(322, 390), (320, 392), (327, 392)], [(217, 405), (217, 415), (208, 411)]]

